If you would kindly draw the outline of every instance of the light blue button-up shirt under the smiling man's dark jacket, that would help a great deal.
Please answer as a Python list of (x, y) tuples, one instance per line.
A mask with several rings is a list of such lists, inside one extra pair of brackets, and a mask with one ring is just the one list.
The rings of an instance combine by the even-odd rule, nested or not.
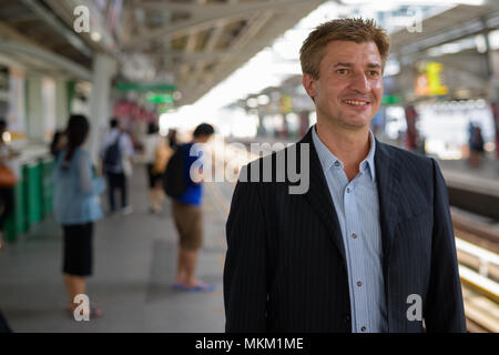
[(350, 293), (352, 332), (387, 332), (387, 311), (383, 277), (383, 244), (376, 186), (376, 141), (359, 164), (358, 174), (348, 182), (343, 162), (318, 138), (313, 142), (338, 216), (345, 245)]

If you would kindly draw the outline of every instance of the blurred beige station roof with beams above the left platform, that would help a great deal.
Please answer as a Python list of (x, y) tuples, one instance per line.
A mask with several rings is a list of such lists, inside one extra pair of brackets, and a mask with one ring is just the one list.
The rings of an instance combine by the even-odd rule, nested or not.
[[(0, 0), (0, 36), (63, 55), (88, 70), (93, 52), (108, 52), (119, 59), (121, 78), (173, 83), (182, 94), (179, 104), (189, 104), (323, 2), (125, 0), (112, 33), (109, 19), (91, 19), (101, 37), (96, 42), (90, 33), (72, 31), (79, 4), (88, 6), (91, 16), (102, 12), (93, 1)], [(50, 65), (22, 54), (13, 53), (30, 68), (50, 72)]]

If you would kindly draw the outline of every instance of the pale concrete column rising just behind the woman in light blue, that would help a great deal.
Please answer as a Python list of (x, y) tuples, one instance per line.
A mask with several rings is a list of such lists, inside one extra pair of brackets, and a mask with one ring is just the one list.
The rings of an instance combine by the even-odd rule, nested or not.
[(91, 131), (86, 142), (93, 162), (98, 161), (101, 135), (111, 115), (111, 80), (115, 70), (116, 63), (111, 57), (102, 53), (94, 55), (89, 118)]

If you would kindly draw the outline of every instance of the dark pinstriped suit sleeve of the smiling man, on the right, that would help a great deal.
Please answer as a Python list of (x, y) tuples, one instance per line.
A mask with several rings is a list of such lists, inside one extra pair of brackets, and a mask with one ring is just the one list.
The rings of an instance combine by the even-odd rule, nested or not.
[(434, 230), (431, 275), (425, 306), (427, 332), (466, 332), (456, 242), (447, 186), (438, 163), (434, 164)]

